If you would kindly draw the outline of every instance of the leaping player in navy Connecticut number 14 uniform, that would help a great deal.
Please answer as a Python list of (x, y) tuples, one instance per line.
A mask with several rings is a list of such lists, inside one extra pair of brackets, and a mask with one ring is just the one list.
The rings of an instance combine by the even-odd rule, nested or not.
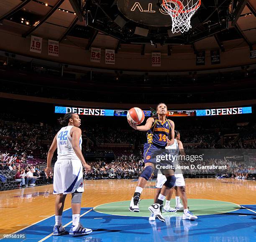
[[(144, 144), (144, 163), (145, 169), (138, 179), (135, 193), (131, 199), (129, 207), (130, 211), (139, 212), (139, 201), (143, 188), (145, 187), (148, 179), (151, 177), (156, 167), (156, 154), (165, 150), (166, 145), (174, 143), (174, 122), (166, 119), (167, 106), (160, 103), (156, 106), (156, 118), (148, 118), (146, 125), (136, 126), (128, 120), (131, 127), (135, 130), (147, 131), (147, 143)], [(164, 217), (161, 214), (163, 202), (169, 190), (174, 186), (176, 178), (172, 169), (165, 170), (166, 182), (164, 183), (158, 199), (155, 204), (151, 205), (148, 209), (158, 218), (164, 222)]]

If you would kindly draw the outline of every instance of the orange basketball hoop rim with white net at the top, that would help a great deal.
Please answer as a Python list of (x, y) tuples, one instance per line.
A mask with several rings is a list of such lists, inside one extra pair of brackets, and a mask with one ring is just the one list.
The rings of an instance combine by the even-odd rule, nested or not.
[(187, 32), (190, 19), (200, 7), (201, 0), (163, 0), (163, 8), (172, 18), (172, 33)]

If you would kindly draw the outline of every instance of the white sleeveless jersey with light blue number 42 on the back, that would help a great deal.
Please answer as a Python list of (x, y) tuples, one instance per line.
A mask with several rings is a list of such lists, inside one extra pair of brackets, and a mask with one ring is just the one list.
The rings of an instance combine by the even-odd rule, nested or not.
[[(72, 129), (72, 125), (63, 127), (57, 133), (57, 150), (58, 150), (58, 160), (79, 160), (77, 155), (75, 154), (72, 147), (72, 137), (70, 136), (70, 130)], [(79, 139), (79, 146), (82, 150), (82, 135)]]

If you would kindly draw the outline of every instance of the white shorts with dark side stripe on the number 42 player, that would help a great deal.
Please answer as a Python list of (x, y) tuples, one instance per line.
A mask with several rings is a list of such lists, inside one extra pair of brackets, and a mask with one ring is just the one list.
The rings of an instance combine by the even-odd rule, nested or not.
[(57, 160), (54, 165), (53, 194), (84, 191), (83, 169), (80, 160)]

